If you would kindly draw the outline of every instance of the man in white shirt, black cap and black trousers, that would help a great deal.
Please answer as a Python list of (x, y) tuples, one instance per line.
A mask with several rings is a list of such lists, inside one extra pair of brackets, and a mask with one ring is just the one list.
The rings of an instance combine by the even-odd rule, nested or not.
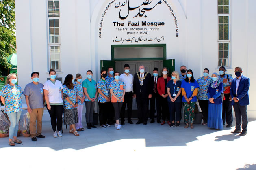
[(121, 125), (124, 125), (124, 115), (125, 107), (127, 104), (127, 120), (128, 123), (133, 124), (132, 122), (132, 99), (133, 99), (133, 75), (129, 73), (130, 66), (129, 64), (124, 64), (124, 73), (120, 76), (120, 81), (123, 81), (126, 85), (124, 103), (121, 108)]

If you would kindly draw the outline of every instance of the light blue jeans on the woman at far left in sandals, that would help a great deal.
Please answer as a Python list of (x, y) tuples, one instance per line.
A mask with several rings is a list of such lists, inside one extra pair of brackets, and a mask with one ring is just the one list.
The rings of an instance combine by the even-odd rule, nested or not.
[(22, 111), (7, 113), (9, 120), (11, 121), (11, 125), (9, 127), (9, 139), (13, 139), (13, 136), (17, 136), (21, 112)]

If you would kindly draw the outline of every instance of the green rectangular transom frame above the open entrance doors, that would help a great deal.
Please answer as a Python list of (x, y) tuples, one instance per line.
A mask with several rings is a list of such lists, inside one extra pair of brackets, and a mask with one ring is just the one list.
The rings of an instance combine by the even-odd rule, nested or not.
[[(115, 59), (114, 48), (116, 48), (116, 47), (163, 47), (163, 57), (162, 58), (122, 58), (122, 59)], [(112, 61), (166, 60), (166, 44), (111, 45), (111, 60)]]

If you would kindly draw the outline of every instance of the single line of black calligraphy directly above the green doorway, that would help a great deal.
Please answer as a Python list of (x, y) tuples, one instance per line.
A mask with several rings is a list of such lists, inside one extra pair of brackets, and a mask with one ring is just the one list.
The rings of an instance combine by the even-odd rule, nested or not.
[(149, 42), (151, 42), (151, 41), (157, 41), (157, 42), (160, 42), (161, 40), (165, 40), (165, 37), (164, 36), (161, 36), (161, 37), (156, 37), (156, 38), (143, 38), (143, 36), (140, 36), (140, 37), (137, 37), (137, 38), (135, 38), (135, 37), (133, 37), (133, 38), (123, 38), (123, 37), (121, 37), (121, 38), (118, 38), (117, 36), (115, 37), (115, 38), (113, 38), (113, 42), (121, 42), (121, 44), (122, 43), (124, 43), (125, 41), (126, 42), (135, 42), (135, 43), (138, 43), (138, 42), (145, 42), (145, 41), (149, 41)]

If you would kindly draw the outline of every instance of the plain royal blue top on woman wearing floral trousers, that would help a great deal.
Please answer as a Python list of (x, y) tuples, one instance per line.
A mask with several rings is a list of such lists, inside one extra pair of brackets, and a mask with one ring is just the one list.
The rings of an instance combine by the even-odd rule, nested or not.
[[(181, 88), (185, 89), (187, 98), (190, 98), (192, 96), (194, 90), (198, 87), (199, 87), (199, 85), (196, 80), (194, 82), (190, 82), (190, 83), (183, 80), (181, 83)], [(191, 102), (196, 102), (196, 101), (197, 101), (197, 97), (194, 96), (192, 98)], [(182, 102), (187, 102), (184, 96), (182, 97)]]

